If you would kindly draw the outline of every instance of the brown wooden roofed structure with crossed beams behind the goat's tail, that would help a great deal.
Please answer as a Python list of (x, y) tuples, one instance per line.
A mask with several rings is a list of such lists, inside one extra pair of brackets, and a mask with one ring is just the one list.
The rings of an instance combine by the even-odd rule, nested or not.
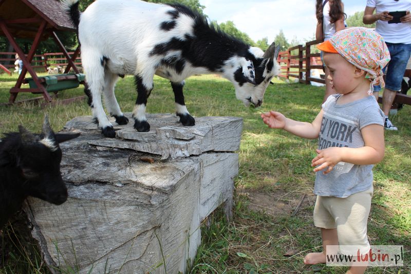
[[(49, 92), (57, 94), (59, 90), (84, 84), (84, 75), (80, 74), (76, 63), (74, 63), (80, 54), (80, 47), (70, 56), (56, 34), (58, 30), (76, 31), (67, 15), (61, 10), (60, 2), (55, 0), (0, 0), (0, 35), (7, 37), (24, 65), (15, 86), (10, 89), (9, 103), (14, 103), (18, 93), (22, 92), (42, 94), (44, 100), (49, 103), (52, 101)], [(38, 77), (32, 66), (40, 41), (46, 40), (50, 36), (57, 43), (67, 60), (67, 66), (63, 74), (55, 75), (52, 81)], [(27, 55), (18, 46), (15, 38), (33, 39), (33, 44)], [(68, 74), (70, 68), (74, 70), (75, 74)], [(7, 72), (8, 69), (4, 70)], [(27, 72), (29, 72), (31, 78), (25, 79)], [(64, 81), (69, 81), (69, 83), (63, 83)], [(30, 88), (22, 88), (23, 83), (28, 83)], [(53, 85), (53, 87), (49, 87), (50, 85)], [(76, 99), (68, 99), (65, 102)]]

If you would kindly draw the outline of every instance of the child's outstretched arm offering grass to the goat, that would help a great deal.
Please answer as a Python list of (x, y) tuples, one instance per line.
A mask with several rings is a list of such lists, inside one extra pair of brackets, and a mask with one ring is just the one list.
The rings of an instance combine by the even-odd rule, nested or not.
[(323, 113), (323, 109), (321, 109), (312, 123), (294, 121), (274, 111), (261, 114), (261, 118), (263, 118), (264, 123), (268, 124), (272, 129), (284, 129), (298, 137), (315, 139), (318, 138), (320, 134)]

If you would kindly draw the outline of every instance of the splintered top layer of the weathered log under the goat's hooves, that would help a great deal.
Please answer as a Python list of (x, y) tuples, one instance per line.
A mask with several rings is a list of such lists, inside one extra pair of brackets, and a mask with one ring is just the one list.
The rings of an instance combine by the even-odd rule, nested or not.
[[(133, 121), (130, 113), (125, 114)], [(108, 148), (132, 149), (161, 155), (162, 159), (189, 157), (208, 151), (237, 151), (242, 119), (236, 117), (198, 117), (194, 126), (183, 126), (175, 115), (147, 114), (150, 132), (138, 132), (133, 123), (117, 125), (111, 122), (118, 138), (90, 140), (90, 144)], [(65, 129), (80, 132), (99, 132), (91, 116), (78, 117)]]

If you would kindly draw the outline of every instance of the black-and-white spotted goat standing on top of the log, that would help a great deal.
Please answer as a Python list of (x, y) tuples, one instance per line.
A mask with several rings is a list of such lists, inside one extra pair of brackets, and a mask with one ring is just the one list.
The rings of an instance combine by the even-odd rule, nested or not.
[(128, 123), (114, 95), (119, 76), (134, 75), (134, 128), (147, 132), (150, 124), (145, 109), (154, 75), (171, 81), (176, 115), (183, 125), (192, 126), (195, 120), (184, 103), (184, 79), (220, 74), (233, 83), (237, 99), (257, 107), (272, 77), (279, 73), (279, 46), (275, 43), (265, 52), (246, 45), (210, 26), (206, 18), (183, 5), (97, 0), (80, 13), (78, 0), (62, 0), (62, 4), (78, 29), (85, 93), (106, 137), (114, 138), (116, 132), (104, 112), (102, 93), (109, 114), (118, 124)]

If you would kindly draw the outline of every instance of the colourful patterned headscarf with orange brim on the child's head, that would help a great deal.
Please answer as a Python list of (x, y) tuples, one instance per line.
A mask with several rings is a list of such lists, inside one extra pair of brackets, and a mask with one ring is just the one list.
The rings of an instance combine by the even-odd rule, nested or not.
[(391, 59), (384, 39), (377, 32), (363, 28), (346, 28), (317, 45), (322, 51), (340, 53), (348, 62), (367, 72), (365, 78), (371, 79), (368, 94), (373, 85), (385, 86), (382, 69)]

